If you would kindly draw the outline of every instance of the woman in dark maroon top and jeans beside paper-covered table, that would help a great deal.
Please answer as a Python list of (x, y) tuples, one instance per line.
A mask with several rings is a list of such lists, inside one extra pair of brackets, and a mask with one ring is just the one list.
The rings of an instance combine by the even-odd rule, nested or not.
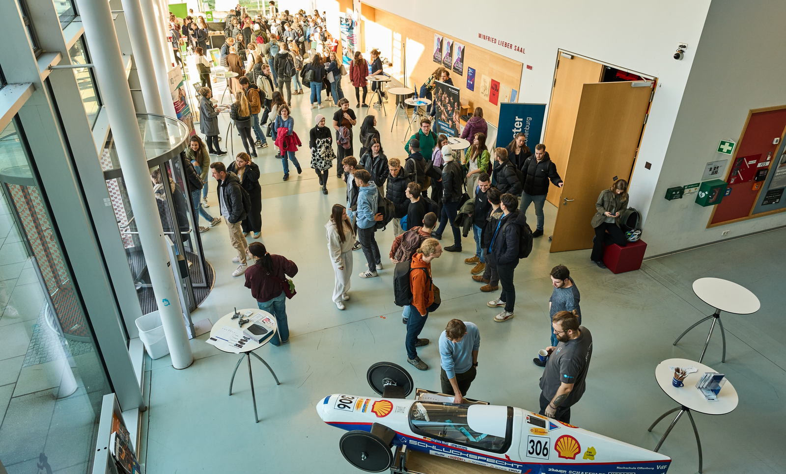
[(248, 244), (248, 257), (254, 259), (255, 264), (248, 265), (245, 286), (251, 289), (259, 309), (276, 317), (278, 330), (270, 344), (281, 345), (289, 339), (287, 297), (281, 286), (286, 284), (287, 276), (297, 275), (297, 265), (281, 255), (268, 253), (262, 242)]

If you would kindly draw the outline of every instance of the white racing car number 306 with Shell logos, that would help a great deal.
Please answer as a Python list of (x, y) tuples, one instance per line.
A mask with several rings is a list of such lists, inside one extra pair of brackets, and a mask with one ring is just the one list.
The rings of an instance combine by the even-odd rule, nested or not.
[(347, 430), (341, 454), (367, 472), (390, 469), (393, 446), (523, 474), (663, 474), (671, 462), (521, 408), (408, 400), (412, 377), (395, 363), (374, 364), (367, 379), (381, 397), (331, 395), (317, 404), (322, 421)]

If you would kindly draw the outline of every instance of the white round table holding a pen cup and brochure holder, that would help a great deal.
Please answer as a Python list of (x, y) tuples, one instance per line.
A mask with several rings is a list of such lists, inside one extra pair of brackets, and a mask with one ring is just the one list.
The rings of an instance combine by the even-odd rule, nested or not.
[[(674, 385), (671, 384), (671, 380), (674, 378), (674, 371), (669, 367), (689, 366), (696, 367), (698, 371), (688, 374), (688, 376), (685, 377), (685, 380), (682, 382), (684, 385), (683, 387), (674, 387)], [(677, 417), (674, 418), (674, 421), (671, 422), (669, 428), (667, 428), (666, 432), (664, 432), (663, 436), (660, 438), (658, 446), (655, 448), (655, 451), (658, 452), (660, 446), (663, 444), (663, 440), (669, 436), (671, 428), (674, 428), (674, 425), (677, 424), (677, 421), (683, 413), (687, 413), (690, 418), (690, 423), (693, 426), (693, 434), (696, 435), (696, 445), (699, 447), (699, 472), (701, 472), (702, 469), (701, 441), (699, 439), (699, 432), (696, 430), (696, 423), (693, 421), (693, 416), (690, 414), (691, 410), (703, 414), (722, 415), (733, 411), (739, 401), (734, 386), (728, 380), (726, 380), (721, 391), (718, 392), (717, 400), (707, 400), (704, 398), (700, 390), (696, 388), (696, 383), (705, 372), (715, 372), (715, 370), (705, 366), (703, 363), (697, 363), (689, 359), (667, 359), (659, 363), (655, 368), (656, 381), (658, 381), (658, 385), (660, 385), (663, 392), (665, 392), (667, 396), (670, 396), (675, 402), (679, 403), (680, 406), (660, 415), (655, 423), (652, 423), (647, 429), (647, 431), (651, 432), (652, 428), (655, 428), (655, 425), (657, 425), (659, 421), (663, 420), (663, 418), (667, 417), (669, 414), (680, 410)]]

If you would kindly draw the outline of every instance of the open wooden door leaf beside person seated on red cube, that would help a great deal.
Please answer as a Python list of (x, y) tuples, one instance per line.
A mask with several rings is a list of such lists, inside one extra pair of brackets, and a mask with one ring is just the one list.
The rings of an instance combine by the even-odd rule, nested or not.
[(597, 196), (615, 179), (630, 178), (652, 93), (641, 84), (599, 82), (582, 87), (552, 252), (591, 248), (595, 232), (589, 221)]

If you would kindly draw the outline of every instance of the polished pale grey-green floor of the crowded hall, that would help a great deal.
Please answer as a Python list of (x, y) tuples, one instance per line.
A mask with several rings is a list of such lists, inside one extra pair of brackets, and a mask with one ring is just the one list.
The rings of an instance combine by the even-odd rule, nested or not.
[[(353, 110), (359, 111), (358, 122), (366, 113), (377, 115), (387, 156), (405, 155), (406, 122), (399, 122), (390, 133), (395, 105), (387, 104), (387, 117), (375, 109), (356, 109), (350, 95), (354, 90), (348, 83), (344, 90)], [(314, 115), (321, 112), (330, 118), (325, 112), (336, 111), (312, 110), (307, 97), (293, 96), (292, 100), (301, 140), (313, 126)], [(224, 127), (226, 122), (222, 122)], [(226, 139), (222, 146), (225, 143)], [(357, 150), (357, 140), (355, 146)], [(241, 148), (237, 137), (234, 148), (236, 152)], [(724, 416), (696, 414), (695, 419), (704, 472), (786, 472), (786, 404), (780, 398), (786, 395), (786, 346), (780, 337), (786, 330), (782, 310), (786, 305), (786, 231), (662, 257), (645, 262), (640, 271), (621, 275), (597, 268), (589, 261), (589, 250), (549, 253), (549, 241), (542, 237), (516, 269), (516, 312), (506, 323), (494, 323), (498, 310), (486, 304), (498, 293), (483, 294), (470, 279), (471, 267), (463, 261), (474, 249), (469, 235), (463, 239), (462, 253), (443, 253), (432, 264), (443, 304), (429, 317), (422, 334), (433, 341), (419, 350), (431, 368), (419, 372), (406, 363), (405, 326), (400, 308), (393, 303), (392, 265), (387, 260), (392, 228), (376, 234), (384, 254), (380, 277), (353, 276), (351, 301), (345, 311), (338, 310), (331, 301), (333, 273), (323, 226), (332, 204), (345, 200), (339, 188), (343, 182), (332, 174), (335, 184), (329, 184), (329, 195), (322, 195), (308, 167), (307, 151), (298, 153), (303, 174), (298, 176), (293, 170), (290, 180), (281, 182), (281, 162), (274, 154), (272, 147), (260, 150), (256, 161), (264, 182), (260, 240), (271, 253), (298, 264), (294, 281), (299, 294), (287, 302), (289, 343), (280, 348), (267, 345), (257, 353), (270, 363), (281, 385), (274, 384), (262, 364), (253, 363), (260, 417), (255, 424), (245, 363), (238, 371), (234, 395), (227, 396), (237, 356), (206, 344), (206, 335), (191, 341), (195, 361), (186, 370), (174, 370), (169, 356), (149, 360), (145, 369), (149, 410), (143, 414), (140, 447), (149, 474), (360, 472), (338, 450), (343, 432), (320, 420), (315, 403), (337, 392), (371, 395), (365, 371), (380, 360), (406, 366), (417, 387), (438, 389), (436, 340), (452, 318), (472, 321), (480, 329), (478, 377), (468, 395), (537, 410), (542, 369), (531, 359), (539, 348), (549, 345), (549, 270), (560, 263), (571, 269), (581, 291), (583, 324), (592, 330), (594, 339), (586, 393), (573, 408), (571, 422), (649, 449), (656, 446), (667, 422), (662, 421), (651, 433), (648, 426), (676, 406), (656, 383), (656, 365), (672, 357), (698, 359), (707, 337), (709, 323), (692, 330), (678, 346), (672, 345), (685, 328), (712, 312), (692, 293), (693, 280), (704, 276), (731, 279), (757, 294), (762, 302), (758, 313), (722, 316), (728, 343), (726, 363), (720, 362), (719, 334), (703, 361), (727, 374), (739, 393), (739, 407)], [(211, 181), (208, 210), (218, 214), (212, 186), (215, 181)], [(556, 209), (546, 206), (546, 235), (553, 229), (555, 216)], [(527, 220), (534, 222), (532, 209)], [(443, 245), (449, 245), (449, 235), (445, 233)], [(194, 313), (194, 320), (207, 317), (215, 322), (233, 307), (254, 308), (242, 277), (230, 275), (236, 253), (226, 227), (211, 228), (203, 241), (217, 275), (215, 288)], [(354, 252), (355, 272), (361, 272), (364, 265), (362, 253)], [(670, 473), (696, 472), (696, 440), (688, 421), (676, 425), (661, 452), (673, 459)]]

